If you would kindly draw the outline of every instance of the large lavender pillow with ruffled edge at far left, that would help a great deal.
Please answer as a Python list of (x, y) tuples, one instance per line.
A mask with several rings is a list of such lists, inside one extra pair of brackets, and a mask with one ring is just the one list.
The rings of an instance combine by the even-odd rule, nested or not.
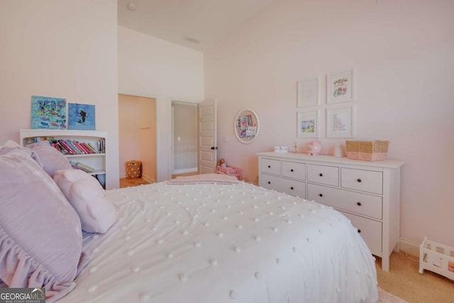
[(28, 148), (0, 149), (0, 280), (70, 292), (82, 253), (79, 216)]

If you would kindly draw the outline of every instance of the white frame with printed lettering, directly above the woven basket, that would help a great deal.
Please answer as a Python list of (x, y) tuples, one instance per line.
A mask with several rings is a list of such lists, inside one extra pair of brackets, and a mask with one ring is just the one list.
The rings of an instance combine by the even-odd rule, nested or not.
[(326, 109), (326, 138), (353, 138), (354, 109)]

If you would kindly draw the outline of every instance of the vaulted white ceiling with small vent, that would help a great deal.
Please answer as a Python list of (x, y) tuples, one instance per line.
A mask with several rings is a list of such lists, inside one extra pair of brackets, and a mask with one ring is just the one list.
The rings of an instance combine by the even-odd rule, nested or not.
[(203, 51), (279, 0), (118, 0), (118, 25)]

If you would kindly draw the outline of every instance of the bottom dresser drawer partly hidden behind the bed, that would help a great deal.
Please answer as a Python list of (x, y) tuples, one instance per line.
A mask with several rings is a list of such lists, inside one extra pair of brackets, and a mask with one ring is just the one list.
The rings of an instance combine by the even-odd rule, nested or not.
[(365, 219), (362, 216), (341, 213), (352, 222), (358, 233), (362, 236), (370, 251), (377, 255), (382, 255), (382, 223), (372, 219)]

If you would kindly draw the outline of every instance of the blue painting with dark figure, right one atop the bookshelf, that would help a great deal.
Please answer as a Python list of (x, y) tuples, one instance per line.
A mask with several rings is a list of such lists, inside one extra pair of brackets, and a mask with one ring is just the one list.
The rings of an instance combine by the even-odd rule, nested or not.
[(79, 131), (95, 131), (94, 105), (68, 104), (68, 128)]

